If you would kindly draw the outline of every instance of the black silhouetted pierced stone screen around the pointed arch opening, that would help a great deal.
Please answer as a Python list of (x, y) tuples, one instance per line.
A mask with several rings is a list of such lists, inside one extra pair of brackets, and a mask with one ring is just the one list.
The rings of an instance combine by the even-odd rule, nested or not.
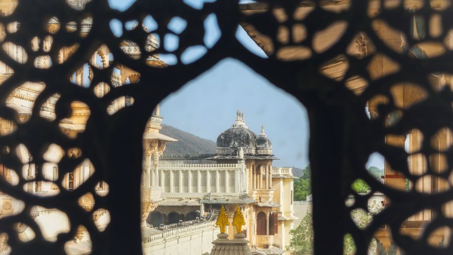
[[(264, 2), (264, 1), (263, 1)], [(276, 3), (273, 1), (272, 3)], [(339, 2), (332, 0), (332, 2)], [(384, 1), (381, 1), (384, 2)], [(395, 243), (407, 254), (448, 254), (453, 247), (451, 243), (445, 249), (429, 246), (425, 241), (415, 241), (399, 233), (401, 223), (424, 208), (430, 208), (440, 213), (441, 206), (453, 199), (453, 190), (439, 194), (421, 194), (412, 190), (401, 192), (375, 180), (365, 170), (365, 163), (369, 155), (379, 152), (386, 157), (393, 169), (405, 174), (415, 181), (407, 169), (407, 154), (404, 149), (385, 144), (388, 134), (405, 135), (413, 128), (419, 129), (426, 137), (431, 137), (441, 127), (452, 129), (453, 113), (451, 101), (453, 94), (445, 87), (435, 91), (430, 86), (427, 76), (431, 73), (452, 73), (453, 53), (446, 51), (435, 58), (416, 59), (405, 52), (396, 52), (389, 48), (377, 34), (374, 33), (371, 22), (373, 19), (385, 20), (390, 26), (401, 30), (410, 45), (420, 41), (436, 41), (442, 43), (452, 28), (452, 7), (443, 11), (432, 10), (425, 4), (415, 13), (428, 20), (432, 13), (441, 15), (443, 32), (440, 37), (432, 38), (429, 33), (422, 40), (415, 40), (408, 36), (410, 20), (413, 13), (409, 13), (399, 6), (394, 9), (382, 9), (373, 18), (367, 16), (368, 1), (351, 0), (348, 10), (334, 13), (326, 11), (321, 6), (329, 1), (303, 2), (302, 5), (313, 5), (313, 10), (304, 20), (292, 19), (297, 1), (278, 1), (288, 15), (284, 25), (292, 26), (304, 23), (307, 29), (307, 38), (298, 43), (312, 48), (312, 39), (320, 31), (335, 21), (344, 20), (348, 26), (338, 42), (322, 53), (313, 52), (313, 56), (305, 60), (282, 61), (275, 54), (269, 53), (269, 58), (261, 58), (249, 52), (236, 38), (238, 25), (247, 22), (254, 25), (261, 33), (269, 36), (276, 49), (283, 44), (277, 40), (276, 33), (281, 25), (272, 15), (275, 4), (269, 4), (269, 11), (250, 16), (241, 13), (238, 1), (223, 0), (204, 4), (201, 10), (193, 9), (182, 0), (148, 1), (137, 0), (124, 12), (109, 8), (107, 0), (92, 0), (84, 10), (75, 10), (59, 0), (20, 0), (12, 15), (0, 17), (0, 22), (9, 24), (20, 22), (20, 29), (13, 34), (6, 33), (6, 39), (24, 47), (28, 54), (28, 61), (19, 63), (10, 58), (4, 51), (0, 51), (0, 60), (15, 73), (0, 86), (0, 117), (13, 121), (18, 127), (16, 132), (0, 137), (0, 145), (4, 148), (15, 148), (23, 143), (33, 156), (33, 163), (44, 163), (42, 154), (51, 143), (58, 144), (67, 150), (72, 147), (82, 149), (83, 158), (69, 158), (67, 156), (58, 163), (58, 180), (56, 184), (60, 194), (54, 197), (37, 198), (24, 192), (22, 186), (26, 183), (20, 178), (18, 185), (13, 186), (5, 180), (0, 180), (0, 189), (25, 202), (24, 211), (16, 216), (0, 219), (0, 232), (9, 235), (9, 244), (12, 254), (65, 254), (64, 243), (72, 240), (77, 226), (84, 225), (90, 233), (93, 243), (93, 254), (141, 254), (140, 233), (140, 177), (142, 162), (142, 134), (148, 117), (154, 107), (170, 93), (177, 91), (187, 82), (195, 79), (202, 73), (216, 65), (226, 57), (233, 57), (248, 65), (256, 73), (266, 78), (275, 86), (283, 89), (297, 98), (308, 110), (310, 119), (310, 162), (312, 168), (313, 213), (315, 228), (316, 254), (341, 254), (343, 236), (351, 233), (357, 245), (357, 253), (364, 254), (373, 233), (384, 224), (392, 229)], [(382, 4), (383, 5), (383, 4)], [(383, 7), (383, 6), (381, 6)], [(167, 52), (164, 47), (153, 52), (175, 54), (178, 59), (184, 50), (192, 45), (204, 45), (203, 21), (207, 15), (216, 15), (221, 37), (212, 48), (200, 59), (188, 65), (178, 65), (165, 68), (147, 66), (147, 55), (142, 53), (141, 58), (132, 59), (124, 54), (119, 43), (128, 39), (138, 43), (141, 52), (145, 52), (147, 33), (140, 29), (127, 31), (117, 38), (109, 28), (112, 19), (126, 22), (142, 20), (146, 15), (152, 15), (158, 22), (159, 28), (153, 33), (160, 38), (170, 31), (167, 23), (173, 17), (181, 17), (188, 22), (187, 28), (179, 35), (180, 45), (174, 52)], [(82, 23), (91, 17), (93, 25), (86, 37), (80, 37), (80, 26), (75, 32), (68, 32), (64, 28), (56, 34), (49, 34), (45, 26), (51, 17), (56, 17), (61, 24), (70, 21)], [(140, 27), (140, 26), (138, 26)], [(397, 73), (383, 78), (370, 80), (366, 71), (371, 56), (357, 59), (346, 55), (349, 61), (349, 75), (360, 75), (368, 81), (367, 88), (360, 95), (355, 95), (344, 85), (345, 81), (334, 81), (320, 74), (319, 68), (324, 62), (344, 54), (348, 44), (358, 32), (364, 32), (373, 42), (376, 51), (385, 53), (399, 63)], [(42, 49), (33, 51), (31, 43), (33, 37), (53, 37), (53, 47), (50, 52)], [(63, 63), (58, 61), (58, 52), (62, 46), (79, 43), (79, 47)], [(93, 81), (88, 89), (74, 86), (69, 77), (78, 70), (102, 45), (106, 44), (114, 55), (113, 65), (100, 70), (92, 67)], [(290, 43), (294, 44), (294, 43)], [(53, 66), (49, 69), (38, 69), (33, 66), (33, 59), (39, 55), (50, 55)], [(136, 84), (113, 87), (111, 73), (113, 67), (121, 63), (141, 74)], [(44, 82), (46, 88), (40, 94), (30, 119), (19, 123), (18, 113), (6, 106), (6, 99), (10, 93), (26, 81)], [(95, 96), (93, 87), (99, 82), (105, 82), (111, 87), (110, 92), (102, 98)], [(399, 109), (403, 112), (402, 118), (390, 127), (385, 126), (386, 116), (395, 109), (390, 96), (390, 87), (400, 82), (412, 82), (422, 87), (427, 98), (414, 104), (409, 109)], [(56, 120), (49, 121), (40, 117), (40, 106), (54, 93), (61, 94), (56, 105)], [(373, 96), (382, 94), (390, 98), (388, 104), (382, 104), (379, 115), (375, 119), (368, 119), (365, 106)], [(128, 95), (134, 98), (134, 104), (123, 108), (113, 115), (107, 114), (109, 103), (120, 96)], [(86, 131), (75, 139), (69, 139), (61, 133), (58, 121), (70, 115), (70, 102), (78, 100), (86, 103), (91, 110)], [(300, 131), (305, 132), (305, 131)], [(302, 146), (302, 145), (301, 145)], [(432, 151), (429, 143), (423, 145), (425, 153)], [(449, 165), (453, 158), (451, 150), (445, 153)], [(96, 171), (81, 186), (69, 192), (62, 188), (61, 181), (65, 173), (73, 170), (84, 158), (89, 158)], [(19, 173), (22, 164), (13, 150), (3, 149), (0, 153), (0, 163)], [(451, 167), (442, 176), (447, 176)], [(373, 192), (382, 192), (392, 204), (386, 207), (371, 224), (361, 230), (355, 226), (349, 217), (351, 210), (366, 208), (368, 196), (361, 196), (352, 192), (350, 185), (356, 178), (364, 179)], [(44, 180), (39, 176), (37, 180)], [(78, 199), (87, 192), (93, 192), (96, 184), (104, 180), (110, 190), (106, 197), (95, 196), (95, 208), (105, 208), (110, 212), (111, 222), (104, 232), (99, 232), (93, 223), (91, 212), (86, 212), (77, 203)], [(356, 203), (347, 208), (344, 201), (349, 194), (353, 194)], [(69, 233), (60, 234), (56, 242), (45, 241), (39, 227), (30, 217), (32, 206), (40, 205), (46, 208), (57, 208), (67, 214), (72, 226)], [(27, 243), (22, 243), (14, 228), (16, 222), (23, 222), (30, 226), (36, 237)], [(446, 225), (453, 228), (451, 219), (445, 217), (433, 220), (427, 227), (428, 232), (438, 226)], [(326, 242), (329, 245), (326, 245)]]

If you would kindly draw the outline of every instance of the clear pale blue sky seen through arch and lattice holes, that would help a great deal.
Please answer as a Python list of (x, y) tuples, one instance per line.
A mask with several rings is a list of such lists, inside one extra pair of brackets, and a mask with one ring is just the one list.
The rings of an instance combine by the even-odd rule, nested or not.
[[(135, 0), (109, 0), (110, 6), (118, 10), (127, 9), (133, 2)], [(201, 8), (203, 2), (211, 1), (184, 2)], [(121, 23), (114, 23), (111, 23), (111, 28), (120, 35)], [(144, 24), (150, 31), (157, 26), (152, 19), (147, 19)], [(126, 24), (126, 27), (132, 25)], [(178, 32), (185, 25), (185, 21), (175, 19), (169, 28)], [(218, 39), (216, 26), (215, 16), (209, 16), (205, 22), (207, 33), (204, 38), (208, 47)], [(253, 53), (266, 57), (242, 28), (238, 28), (236, 36)], [(176, 49), (177, 36), (165, 36), (164, 44), (167, 50)], [(188, 50), (182, 61), (196, 60), (205, 53), (203, 48), (199, 46)], [(171, 56), (161, 55), (161, 58), (170, 64), (176, 63)], [(309, 163), (309, 125), (304, 106), (238, 60), (227, 58), (220, 61), (161, 103), (165, 124), (214, 142), (234, 123), (237, 109), (244, 111), (246, 124), (255, 133), (259, 134), (261, 124), (264, 124), (273, 152), (281, 158), (274, 161), (274, 166), (305, 167)], [(370, 161), (370, 165), (384, 167), (380, 157), (372, 157)]]

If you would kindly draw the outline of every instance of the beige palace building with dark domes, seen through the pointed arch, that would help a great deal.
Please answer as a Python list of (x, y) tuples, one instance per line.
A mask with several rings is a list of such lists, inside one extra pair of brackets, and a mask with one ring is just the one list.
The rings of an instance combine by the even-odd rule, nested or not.
[[(252, 251), (282, 254), (296, 219), (294, 177), (291, 168), (272, 167), (273, 160), (278, 158), (272, 154), (264, 126), (255, 134), (238, 111), (235, 123), (218, 136), (215, 154), (164, 154), (160, 158), (163, 201), (149, 215), (148, 224), (156, 227), (210, 217), (222, 205), (232, 217), (239, 206), (246, 222), (243, 233)], [(227, 233), (233, 236), (233, 231), (229, 227)]]

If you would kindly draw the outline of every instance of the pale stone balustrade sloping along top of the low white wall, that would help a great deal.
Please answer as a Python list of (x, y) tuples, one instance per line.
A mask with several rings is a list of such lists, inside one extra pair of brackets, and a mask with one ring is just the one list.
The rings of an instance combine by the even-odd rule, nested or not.
[(155, 234), (149, 237), (142, 238), (142, 242), (156, 244), (159, 242), (176, 239), (178, 237), (192, 235), (197, 232), (211, 230), (215, 228), (214, 223), (215, 221), (206, 221), (203, 223), (195, 223), (192, 225), (167, 229), (160, 234)]

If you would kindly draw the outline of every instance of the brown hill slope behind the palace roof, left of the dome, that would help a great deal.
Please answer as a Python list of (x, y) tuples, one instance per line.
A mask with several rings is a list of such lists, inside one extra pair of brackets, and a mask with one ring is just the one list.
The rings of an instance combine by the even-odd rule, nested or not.
[(177, 139), (178, 142), (167, 143), (165, 154), (171, 153), (215, 153), (215, 143), (170, 125), (162, 125), (161, 134)]

